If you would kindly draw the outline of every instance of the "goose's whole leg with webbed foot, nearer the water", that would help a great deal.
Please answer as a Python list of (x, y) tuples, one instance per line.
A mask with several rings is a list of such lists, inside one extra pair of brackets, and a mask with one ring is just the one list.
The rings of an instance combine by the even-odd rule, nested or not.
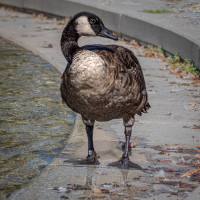
[(88, 138), (88, 156), (85, 159), (77, 161), (75, 164), (99, 165), (100, 163), (98, 158), (100, 158), (100, 156), (95, 152), (93, 144), (94, 121), (83, 119), (83, 123), (86, 125), (86, 133)]

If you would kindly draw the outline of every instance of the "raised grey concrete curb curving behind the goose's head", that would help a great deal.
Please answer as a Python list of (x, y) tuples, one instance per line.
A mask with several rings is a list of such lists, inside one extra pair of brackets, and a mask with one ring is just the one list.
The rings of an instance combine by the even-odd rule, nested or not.
[[(134, 38), (144, 44), (161, 45), (168, 53), (178, 53), (182, 58), (191, 59), (200, 69), (200, 44), (197, 41), (183, 36), (182, 33), (176, 33), (138, 18), (69, 0), (0, 0), (0, 3), (62, 17), (70, 17), (80, 11), (93, 12), (102, 18), (108, 28), (125, 38)], [(137, 27), (137, 29), (134, 27)]]

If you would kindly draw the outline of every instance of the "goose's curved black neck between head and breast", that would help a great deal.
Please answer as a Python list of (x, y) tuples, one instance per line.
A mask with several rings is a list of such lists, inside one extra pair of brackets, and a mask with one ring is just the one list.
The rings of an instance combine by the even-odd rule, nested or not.
[(72, 62), (73, 55), (80, 49), (77, 43), (78, 38), (79, 35), (74, 29), (73, 23), (69, 22), (63, 30), (60, 41), (62, 53), (69, 63)]

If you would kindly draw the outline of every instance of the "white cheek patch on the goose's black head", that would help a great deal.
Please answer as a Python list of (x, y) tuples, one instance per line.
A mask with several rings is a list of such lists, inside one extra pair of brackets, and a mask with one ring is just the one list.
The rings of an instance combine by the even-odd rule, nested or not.
[(86, 16), (79, 17), (77, 20), (76, 30), (80, 36), (96, 35), (92, 30)]

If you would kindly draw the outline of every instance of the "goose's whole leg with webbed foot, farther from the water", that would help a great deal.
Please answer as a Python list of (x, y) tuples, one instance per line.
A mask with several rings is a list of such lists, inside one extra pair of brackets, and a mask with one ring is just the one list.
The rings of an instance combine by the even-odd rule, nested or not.
[(124, 153), (122, 154), (122, 157), (118, 161), (109, 164), (109, 166), (123, 168), (123, 169), (130, 169), (130, 168), (141, 169), (139, 165), (130, 161), (129, 155), (128, 155), (129, 142), (131, 138), (132, 126), (134, 124), (134, 121), (135, 121), (134, 118), (131, 118), (127, 123), (124, 120), (124, 126), (125, 126), (124, 134), (125, 134), (125, 140), (126, 140)]

